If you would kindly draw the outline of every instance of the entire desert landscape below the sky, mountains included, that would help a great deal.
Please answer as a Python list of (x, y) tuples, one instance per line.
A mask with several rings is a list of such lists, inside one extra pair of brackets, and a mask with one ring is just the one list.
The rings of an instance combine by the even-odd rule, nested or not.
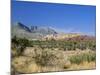
[(96, 68), (96, 38), (49, 27), (12, 25), (11, 72), (37, 73)]

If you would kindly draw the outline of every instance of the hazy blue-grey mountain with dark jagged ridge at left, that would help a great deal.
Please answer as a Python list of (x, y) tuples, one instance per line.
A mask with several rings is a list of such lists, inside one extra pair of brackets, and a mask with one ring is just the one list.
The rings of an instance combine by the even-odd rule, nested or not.
[(41, 26), (27, 26), (21, 22), (17, 22), (15, 25), (12, 26), (12, 35), (16, 35), (19, 37), (27, 37), (31, 39), (37, 39), (37, 37), (50, 35), (50, 34), (57, 34), (55, 30), (49, 27), (41, 27)]

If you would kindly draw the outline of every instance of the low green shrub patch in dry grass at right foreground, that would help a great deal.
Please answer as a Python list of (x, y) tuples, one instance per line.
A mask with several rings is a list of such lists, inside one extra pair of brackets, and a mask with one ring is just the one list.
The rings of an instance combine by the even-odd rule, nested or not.
[(71, 63), (74, 64), (80, 64), (82, 62), (91, 62), (96, 60), (96, 54), (89, 52), (89, 53), (83, 53), (79, 55), (73, 55), (69, 58)]

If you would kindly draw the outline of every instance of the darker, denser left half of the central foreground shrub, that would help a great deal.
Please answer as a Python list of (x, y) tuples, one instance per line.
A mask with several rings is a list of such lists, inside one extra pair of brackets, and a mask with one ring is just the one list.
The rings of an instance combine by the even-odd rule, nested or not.
[(35, 56), (35, 61), (37, 64), (41, 66), (45, 66), (49, 63), (50, 59), (55, 59), (55, 55), (53, 55), (51, 52), (48, 50), (44, 49), (38, 53), (39, 50), (35, 50), (36, 56)]

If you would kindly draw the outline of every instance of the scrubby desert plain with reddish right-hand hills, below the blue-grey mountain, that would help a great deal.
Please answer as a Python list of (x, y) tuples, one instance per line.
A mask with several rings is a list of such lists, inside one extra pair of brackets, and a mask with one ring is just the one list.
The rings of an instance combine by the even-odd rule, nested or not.
[(96, 68), (96, 44), (92, 36), (78, 35), (58, 40), (28, 40), (15, 36), (11, 49), (12, 75)]

